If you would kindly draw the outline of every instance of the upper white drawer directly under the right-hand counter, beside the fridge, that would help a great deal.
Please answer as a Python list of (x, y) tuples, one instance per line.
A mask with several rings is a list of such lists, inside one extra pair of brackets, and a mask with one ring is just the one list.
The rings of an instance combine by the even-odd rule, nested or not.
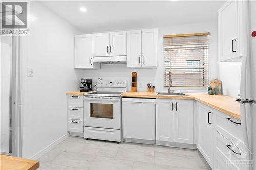
[(217, 110), (214, 111), (213, 118), (214, 129), (243, 150), (241, 121)]

